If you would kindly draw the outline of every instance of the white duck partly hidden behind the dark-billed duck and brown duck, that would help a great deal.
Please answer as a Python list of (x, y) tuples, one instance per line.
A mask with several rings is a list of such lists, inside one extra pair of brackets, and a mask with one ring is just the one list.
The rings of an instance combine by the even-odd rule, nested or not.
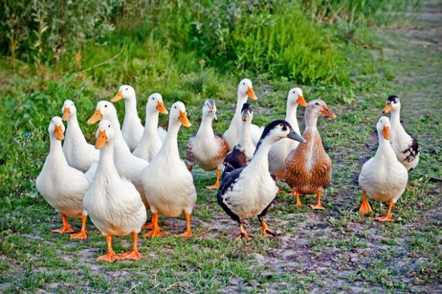
[[(298, 126), (298, 119), (296, 119), (296, 109), (298, 105), (305, 107), (307, 102), (304, 99), (302, 90), (300, 88), (293, 88), (289, 90), (287, 96), (287, 112), (285, 121), (288, 121), (296, 133), (300, 134)], [(269, 151), (269, 171), (278, 179), (285, 179), (285, 159), (287, 155), (298, 146), (299, 142), (291, 139), (280, 139)]]

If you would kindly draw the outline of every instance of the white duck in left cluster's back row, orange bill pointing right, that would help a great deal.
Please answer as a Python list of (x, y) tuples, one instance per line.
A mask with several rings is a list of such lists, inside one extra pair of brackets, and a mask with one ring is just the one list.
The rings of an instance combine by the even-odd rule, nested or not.
[(152, 161), (157, 155), (163, 144), (162, 133), (163, 128), (158, 127), (158, 115), (160, 113), (169, 113), (164, 107), (163, 97), (160, 93), (153, 93), (147, 99), (146, 104), (146, 123), (144, 124), (144, 132), (137, 148), (133, 150), (133, 155), (140, 157), (146, 161)]

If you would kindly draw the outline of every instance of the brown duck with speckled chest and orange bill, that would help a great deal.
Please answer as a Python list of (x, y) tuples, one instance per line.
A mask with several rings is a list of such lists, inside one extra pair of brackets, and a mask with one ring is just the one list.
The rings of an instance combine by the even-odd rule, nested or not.
[(318, 117), (336, 118), (323, 100), (311, 100), (305, 108), (305, 130), (302, 134), (306, 144), (291, 150), (285, 159), (285, 182), (291, 187), (291, 195), (296, 194), (296, 206), (302, 206), (300, 195), (316, 194), (316, 204), (310, 204), (313, 209), (325, 208), (320, 204), (323, 190), (332, 180), (332, 161), (325, 153), (323, 141), (320, 139), (316, 123)]

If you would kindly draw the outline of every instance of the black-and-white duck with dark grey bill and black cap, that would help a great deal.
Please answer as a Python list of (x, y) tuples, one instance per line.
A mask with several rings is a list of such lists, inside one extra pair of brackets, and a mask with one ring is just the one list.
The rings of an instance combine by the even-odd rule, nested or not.
[(251, 239), (244, 230), (243, 219), (256, 216), (263, 235), (279, 235), (278, 231), (269, 228), (262, 218), (267, 214), (278, 192), (278, 186), (269, 173), (267, 157), (271, 146), (283, 138), (305, 142), (305, 139), (291, 128), (289, 122), (272, 121), (264, 128), (250, 164), (233, 170), (222, 179), (217, 194), (218, 204), (231, 219), (238, 222), (238, 239)]

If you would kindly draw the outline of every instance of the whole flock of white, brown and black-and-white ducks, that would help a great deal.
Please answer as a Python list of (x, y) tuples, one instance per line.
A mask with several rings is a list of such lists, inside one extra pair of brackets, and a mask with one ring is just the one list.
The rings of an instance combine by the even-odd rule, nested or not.
[[(280, 231), (267, 226), (263, 217), (277, 193), (282, 192), (276, 178), (285, 181), (296, 195), (296, 206), (302, 206), (301, 195), (316, 194), (313, 209), (325, 209), (321, 194), (331, 182), (332, 161), (325, 152), (316, 127), (318, 117), (335, 118), (323, 100), (307, 102), (300, 88), (289, 90), (285, 119), (272, 121), (265, 128), (252, 124), (253, 109), (247, 99), (257, 99), (249, 79), (238, 86), (235, 115), (224, 135), (212, 128), (216, 117), (215, 101), (207, 99), (202, 106), (198, 132), (186, 146), (186, 164), (180, 158), (177, 135), (181, 126), (189, 127), (186, 107), (175, 102), (166, 110), (162, 95), (148, 97), (146, 124), (137, 115), (135, 90), (121, 86), (111, 99), (124, 99), (125, 116), (120, 127), (117, 110), (110, 101), (99, 101), (88, 124), (97, 122), (95, 146), (88, 144), (77, 120), (77, 108), (64, 101), (62, 117), (53, 117), (48, 132), (50, 151), (36, 184), (39, 193), (61, 214), (63, 226), (56, 233), (73, 233), (66, 217), (81, 218), (79, 233), (72, 239), (86, 239), (86, 220), (90, 220), (106, 237), (108, 250), (97, 260), (140, 259), (138, 233), (144, 237), (162, 236), (158, 224), (160, 213), (167, 217), (184, 214), (186, 229), (180, 234), (191, 237), (191, 215), (197, 200), (191, 170), (199, 166), (216, 170), (218, 204), (238, 222), (238, 238), (250, 239), (243, 220), (258, 217), (263, 235), (276, 236)], [(296, 110), (305, 107), (305, 130), (302, 136)], [(390, 96), (376, 125), (379, 146), (376, 155), (363, 165), (359, 185), (363, 202), (359, 211), (372, 214), (367, 195), (388, 202), (387, 213), (378, 221), (392, 221), (391, 210), (403, 194), (408, 171), (419, 161), (419, 146), (408, 135), (399, 118), (401, 103)], [(158, 117), (169, 113), (169, 128), (158, 127)], [(63, 121), (67, 121), (65, 135)], [(61, 141), (64, 140), (63, 146)], [(146, 223), (146, 210), (151, 222)], [(133, 248), (117, 254), (112, 249), (113, 236), (132, 235)]]

